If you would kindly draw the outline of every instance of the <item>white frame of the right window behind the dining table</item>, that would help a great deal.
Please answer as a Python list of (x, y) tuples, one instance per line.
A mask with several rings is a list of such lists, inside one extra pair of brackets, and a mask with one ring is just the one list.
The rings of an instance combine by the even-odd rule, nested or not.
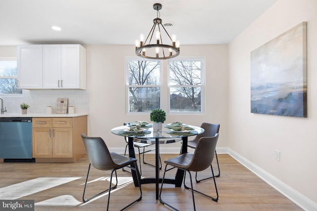
[[(192, 85), (171, 85), (170, 84), (170, 71), (169, 71), (169, 61), (200, 61), (201, 62), (201, 84), (194, 85), (195, 87), (201, 87), (201, 111), (200, 112), (175, 112), (170, 110), (170, 88), (171, 87), (192, 87)], [(168, 113), (175, 115), (205, 115), (206, 114), (206, 63), (205, 57), (177, 57), (175, 59), (168, 60), (168, 78), (167, 78), (167, 86), (168, 86)]]

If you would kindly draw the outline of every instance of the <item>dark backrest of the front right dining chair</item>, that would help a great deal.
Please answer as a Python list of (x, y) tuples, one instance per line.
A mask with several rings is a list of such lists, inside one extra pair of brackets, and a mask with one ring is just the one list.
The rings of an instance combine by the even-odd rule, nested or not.
[(188, 165), (188, 170), (202, 171), (210, 167), (216, 150), (218, 137), (219, 133), (216, 133), (212, 137), (201, 137), (198, 140), (193, 159)]

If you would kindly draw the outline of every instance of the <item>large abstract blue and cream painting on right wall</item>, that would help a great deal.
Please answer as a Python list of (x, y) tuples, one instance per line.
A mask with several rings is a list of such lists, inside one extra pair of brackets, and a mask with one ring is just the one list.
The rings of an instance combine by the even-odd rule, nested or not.
[(307, 117), (307, 22), (251, 52), (251, 113)]

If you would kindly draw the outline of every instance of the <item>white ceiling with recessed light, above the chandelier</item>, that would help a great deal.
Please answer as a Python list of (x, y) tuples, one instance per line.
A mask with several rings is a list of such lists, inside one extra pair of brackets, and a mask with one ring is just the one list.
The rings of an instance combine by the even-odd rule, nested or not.
[[(0, 45), (134, 44), (161, 3), (180, 44), (226, 44), (277, 0), (0, 0)], [(53, 31), (51, 26), (61, 27)]]

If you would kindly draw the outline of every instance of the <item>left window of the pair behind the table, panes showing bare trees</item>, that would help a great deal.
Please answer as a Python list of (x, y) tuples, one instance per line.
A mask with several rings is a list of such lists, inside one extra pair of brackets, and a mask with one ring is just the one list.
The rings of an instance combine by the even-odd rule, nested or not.
[(127, 59), (128, 111), (151, 112), (160, 108), (160, 61)]

